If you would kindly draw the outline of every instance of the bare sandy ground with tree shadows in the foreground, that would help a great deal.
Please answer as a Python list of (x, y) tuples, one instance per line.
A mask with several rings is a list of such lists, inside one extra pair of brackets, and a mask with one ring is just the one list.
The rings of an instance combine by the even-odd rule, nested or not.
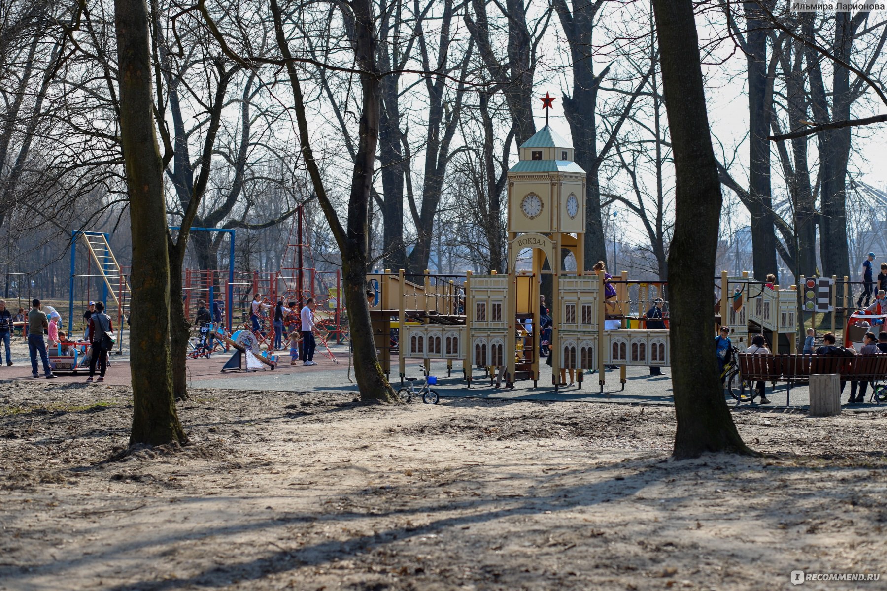
[(739, 411), (762, 458), (669, 459), (664, 407), (0, 384), (0, 589), (775, 589), (880, 573), (887, 413)]

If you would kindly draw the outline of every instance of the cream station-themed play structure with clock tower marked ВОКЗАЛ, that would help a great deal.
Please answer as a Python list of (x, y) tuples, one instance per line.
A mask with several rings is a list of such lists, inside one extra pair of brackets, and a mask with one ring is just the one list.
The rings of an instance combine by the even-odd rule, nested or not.
[[(583, 268), (585, 171), (572, 155), (572, 146), (547, 125), (521, 146), (520, 161), (508, 172), (505, 275), (442, 276), (426, 271), (410, 276), (386, 269), (367, 276), (374, 294), (373, 333), (389, 376), (396, 334), (402, 382), (406, 359), (419, 358), (426, 369), (433, 359), (446, 360), (448, 369), (460, 361), (469, 387), (473, 367), (485, 368), (491, 377), (504, 373), (506, 387), (514, 387), (519, 379), (537, 385), (543, 275), (552, 276), (550, 364), (575, 370), (578, 387), (585, 372), (597, 373), (602, 391), (605, 366), (620, 368), (624, 388), (626, 367), (671, 364), (667, 284), (632, 282), (625, 271), (608, 279), (603, 272)], [(518, 261), (528, 250), (530, 268), (519, 269)], [(561, 250), (573, 255), (576, 270), (561, 268)], [(550, 270), (544, 268), (546, 259)], [(607, 296), (608, 283), (614, 289)], [(751, 330), (769, 331), (774, 351), (781, 338), (794, 346), (794, 285), (780, 290), (750, 279), (748, 273), (730, 277), (725, 272), (717, 291), (718, 326), (731, 326), (737, 344), (747, 345)], [(647, 328), (645, 312), (658, 297), (666, 300), (666, 317), (656, 322), (666, 328)], [(555, 390), (563, 385), (559, 374), (552, 372)]]

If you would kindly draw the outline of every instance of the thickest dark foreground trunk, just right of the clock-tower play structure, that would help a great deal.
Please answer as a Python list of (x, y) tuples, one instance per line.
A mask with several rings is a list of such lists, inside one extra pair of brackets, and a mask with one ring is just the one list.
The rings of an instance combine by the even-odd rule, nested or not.
[[(669, 253), (671, 382), (678, 432), (675, 457), (752, 453), (726, 407), (715, 361), (711, 301), (721, 192), (705, 110), (693, 3), (654, 0), (663, 91), (675, 164), (675, 226)], [(702, 280), (700, 279), (702, 278)], [(709, 308), (710, 309), (710, 308)]]

